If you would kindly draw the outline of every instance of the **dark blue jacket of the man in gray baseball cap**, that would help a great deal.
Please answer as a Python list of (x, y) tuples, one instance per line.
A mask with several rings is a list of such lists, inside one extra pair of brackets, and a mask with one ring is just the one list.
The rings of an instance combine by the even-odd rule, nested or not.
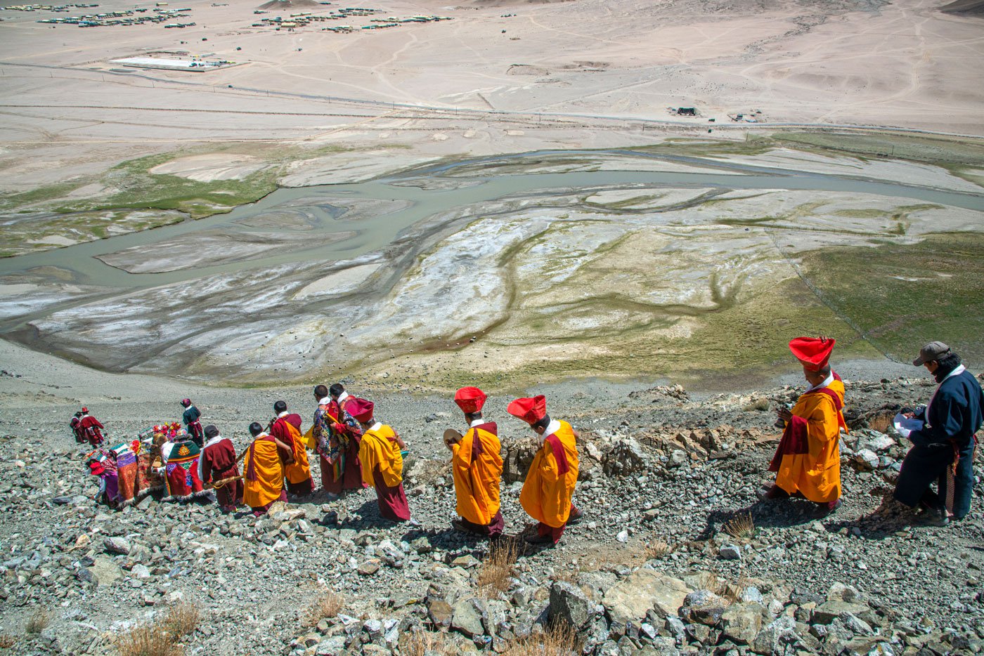
[(984, 422), (982, 406), (984, 392), (973, 374), (964, 371), (952, 376), (936, 392), (929, 406), (929, 417), (919, 416), (928, 426), (921, 431), (913, 431), (909, 440), (922, 447), (953, 440), (957, 447), (962, 447)]

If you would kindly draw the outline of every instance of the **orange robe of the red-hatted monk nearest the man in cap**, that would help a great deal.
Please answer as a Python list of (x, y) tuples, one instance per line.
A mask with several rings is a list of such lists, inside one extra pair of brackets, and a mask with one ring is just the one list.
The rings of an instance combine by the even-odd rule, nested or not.
[[(842, 406), (844, 384), (834, 380), (828, 388)], [(836, 501), (840, 497), (840, 429), (847, 430), (844, 417), (826, 393), (803, 394), (792, 413), (807, 422), (809, 452), (783, 455), (775, 484), (818, 504)]]

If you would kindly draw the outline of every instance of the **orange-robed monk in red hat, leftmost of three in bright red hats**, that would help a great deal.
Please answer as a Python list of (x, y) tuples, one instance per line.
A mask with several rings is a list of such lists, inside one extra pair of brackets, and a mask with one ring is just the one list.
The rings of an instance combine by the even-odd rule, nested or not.
[(495, 422), (482, 419), (486, 398), (479, 388), (455, 392), (455, 403), (464, 413), (468, 430), (463, 436), (453, 430), (445, 432), (445, 445), (452, 451), (451, 467), (461, 515), (451, 524), (463, 532), (498, 538), (505, 527), (499, 510), (502, 456), (498, 427)]

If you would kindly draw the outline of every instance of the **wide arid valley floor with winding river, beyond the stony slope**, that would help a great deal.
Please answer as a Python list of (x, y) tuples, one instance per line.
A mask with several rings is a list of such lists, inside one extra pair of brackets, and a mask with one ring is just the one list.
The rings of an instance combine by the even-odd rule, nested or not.
[[(241, 384), (726, 387), (819, 331), (974, 361), (984, 19), (944, 4), (387, 2), (352, 33), (253, 25), (317, 3), (2, 11), (0, 329)], [(361, 30), (413, 16), (452, 20)], [(236, 65), (112, 63), (148, 53)]]

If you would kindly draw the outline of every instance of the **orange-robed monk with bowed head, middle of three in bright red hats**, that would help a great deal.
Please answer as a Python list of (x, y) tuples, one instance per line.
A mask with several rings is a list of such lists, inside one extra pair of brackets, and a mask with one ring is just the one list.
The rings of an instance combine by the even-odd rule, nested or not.
[(581, 519), (581, 510), (571, 503), (578, 482), (578, 434), (566, 421), (550, 418), (543, 394), (517, 398), (506, 411), (529, 424), (539, 436), (540, 447), (520, 493), (523, 510), (539, 523), (536, 535), (525, 540), (555, 545), (567, 525)]

